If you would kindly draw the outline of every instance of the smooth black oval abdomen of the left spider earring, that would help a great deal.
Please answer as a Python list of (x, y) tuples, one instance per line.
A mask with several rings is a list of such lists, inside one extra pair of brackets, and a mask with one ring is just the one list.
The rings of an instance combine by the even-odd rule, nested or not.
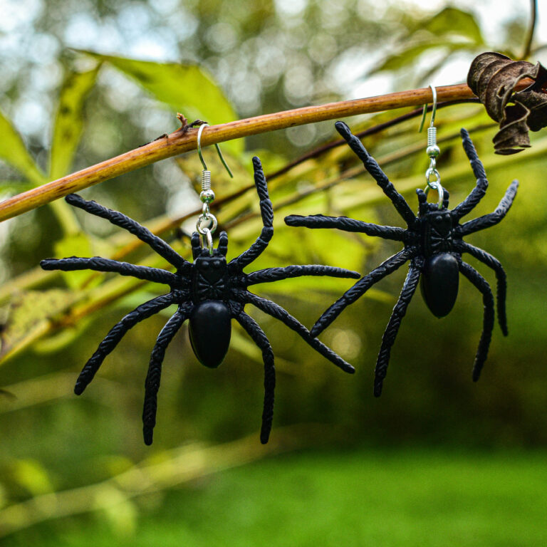
[(205, 300), (197, 304), (190, 316), (188, 333), (199, 363), (217, 368), (230, 345), (231, 316), (219, 300)]

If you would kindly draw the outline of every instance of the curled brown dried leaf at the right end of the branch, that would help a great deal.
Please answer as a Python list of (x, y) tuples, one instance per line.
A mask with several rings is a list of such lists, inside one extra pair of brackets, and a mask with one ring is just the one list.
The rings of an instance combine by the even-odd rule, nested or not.
[[(523, 78), (536, 83), (519, 93), (514, 89)], [(499, 122), (494, 136), (496, 154), (510, 155), (530, 147), (528, 131), (547, 125), (547, 71), (537, 63), (512, 61), (501, 53), (489, 51), (474, 58), (467, 85), (479, 97), (489, 116)]]

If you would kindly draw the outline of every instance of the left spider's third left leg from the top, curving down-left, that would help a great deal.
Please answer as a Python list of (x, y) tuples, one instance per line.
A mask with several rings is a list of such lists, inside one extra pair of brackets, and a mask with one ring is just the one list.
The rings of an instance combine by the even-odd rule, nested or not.
[(152, 298), (152, 300), (141, 304), (130, 313), (127, 313), (127, 316), (119, 323), (116, 323), (99, 344), (95, 353), (93, 353), (88, 362), (85, 363), (82, 372), (78, 376), (78, 380), (76, 380), (76, 385), (74, 387), (75, 394), (80, 395), (83, 390), (85, 390), (85, 387), (93, 380), (93, 376), (95, 376), (95, 373), (99, 370), (100, 365), (103, 364), (105, 357), (116, 347), (116, 345), (118, 345), (118, 342), (123, 338), (125, 333), (127, 333), (127, 330), (133, 328), (139, 321), (153, 316), (158, 311), (167, 308), (167, 306), (171, 306), (171, 304), (174, 303), (174, 298), (175, 297), (171, 293)]

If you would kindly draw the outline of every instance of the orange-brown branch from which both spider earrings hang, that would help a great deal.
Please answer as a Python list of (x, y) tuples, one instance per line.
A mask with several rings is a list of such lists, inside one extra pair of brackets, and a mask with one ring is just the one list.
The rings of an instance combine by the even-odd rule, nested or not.
[[(530, 85), (529, 80), (521, 80), (518, 88), (525, 88), (527, 85)], [(464, 83), (444, 85), (437, 88), (439, 102), (473, 97), (472, 90)], [(295, 125), (422, 105), (431, 102), (431, 100), (431, 90), (421, 88), (364, 99), (345, 100), (339, 103), (307, 106), (295, 110), (256, 116), (256, 118), (236, 120), (235, 122), (207, 127), (202, 133), (202, 146), (239, 139), (248, 135), (258, 135), (259, 133)], [(149, 142), (147, 145), (138, 147), (135, 150), (130, 150), (130, 152), (125, 152), (125, 154), (113, 157), (110, 160), (18, 194), (0, 203), (0, 222), (53, 202), (55, 199), (66, 196), (71, 192), (78, 192), (93, 184), (118, 177), (120, 174), (136, 170), (139, 167), (145, 167), (145, 165), (165, 160), (167, 157), (194, 150), (196, 141), (197, 130), (188, 130), (181, 127), (170, 135), (165, 135), (165, 137)]]

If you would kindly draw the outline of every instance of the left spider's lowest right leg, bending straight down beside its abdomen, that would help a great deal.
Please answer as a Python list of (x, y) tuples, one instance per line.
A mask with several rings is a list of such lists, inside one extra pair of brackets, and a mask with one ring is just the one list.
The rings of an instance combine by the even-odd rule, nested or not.
[(251, 316), (241, 311), (235, 317), (254, 343), (262, 350), (262, 360), (264, 361), (264, 407), (262, 410), (260, 442), (266, 444), (270, 437), (271, 422), (273, 420), (273, 397), (276, 389), (276, 368), (273, 364), (273, 351), (264, 330), (259, 327), (259, 324)]

